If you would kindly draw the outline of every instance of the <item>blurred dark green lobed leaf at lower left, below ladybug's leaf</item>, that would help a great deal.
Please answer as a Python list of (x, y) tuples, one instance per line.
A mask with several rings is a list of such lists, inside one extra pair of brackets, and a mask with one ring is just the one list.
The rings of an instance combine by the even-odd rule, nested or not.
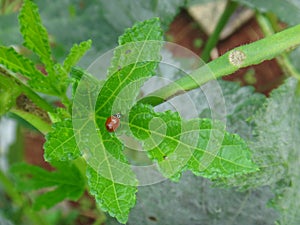
[(73, 164), (56, 164), (58, 170), (46, 171), (29, 164), (15, 164), (10, 171), (16, 179), (16, 187), (28, 192), (52, 187), (54, 190), (40, 194), (33, 207), (50, 208), (64, 199), (76, 201), (84, 192), (85, 181)]

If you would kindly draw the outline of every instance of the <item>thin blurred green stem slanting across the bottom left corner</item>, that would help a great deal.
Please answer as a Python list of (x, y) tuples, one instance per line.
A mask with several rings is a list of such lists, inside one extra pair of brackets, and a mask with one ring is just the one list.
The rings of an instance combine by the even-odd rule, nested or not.
[(12, 201), (17, 206), (23, 208), (26, 216), (32, 221), (32, 224), (48, 224), (45, 220), (42, 219), (42, 217), (39, 214), (33, 211), (28, 201), (22, 195), (19, 194), (14, 184), (6, 177), (2, 170), (0, 170), (0, 184), (4, 188), (7, 195), (12, 199)]

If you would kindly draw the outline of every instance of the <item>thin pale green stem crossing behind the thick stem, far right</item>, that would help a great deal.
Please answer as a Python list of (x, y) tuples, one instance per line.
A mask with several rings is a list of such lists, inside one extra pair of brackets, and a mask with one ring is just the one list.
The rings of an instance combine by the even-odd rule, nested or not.
[[(275, 29), (271, 21), (266, 16), (260, 13), (256, 13), (256, 20), (266, 37), (271, 36), (275, 33)], [(300, 73), (295, 69), (286, 53), (283, 53), (276, 57), (276, 61), (286, 74), (295, 77), (297, 80), (300, 80)]]

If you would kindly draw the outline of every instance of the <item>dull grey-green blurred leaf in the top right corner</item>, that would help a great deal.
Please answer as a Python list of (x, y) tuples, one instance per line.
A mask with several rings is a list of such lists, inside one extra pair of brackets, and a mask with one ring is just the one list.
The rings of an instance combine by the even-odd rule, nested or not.
[(248, 7), (258, 9), (260, 12), (273, 12), (280, 20), (293, 26), (300, 21), (300, 1), (299, 0), (235, 0)]

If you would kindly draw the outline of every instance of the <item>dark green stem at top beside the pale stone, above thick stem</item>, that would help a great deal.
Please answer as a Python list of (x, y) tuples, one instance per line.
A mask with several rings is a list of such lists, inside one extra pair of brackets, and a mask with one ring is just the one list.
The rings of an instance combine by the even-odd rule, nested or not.
[(230, 19), (232, 13), (235, 11), (237, 6), (238, 6), (238, 4), (236, 2), (232, 2), (230, 0), (227, 2), (225, 10), (220, 17), (214, 32), (207, 40), (205, 47), (203, 49), (203, 52), (201, 54), (201, 59), (204, 62), (209, 61), (211, 50), (216, 46), (223, 28), (226, 26), (228, 20)]

